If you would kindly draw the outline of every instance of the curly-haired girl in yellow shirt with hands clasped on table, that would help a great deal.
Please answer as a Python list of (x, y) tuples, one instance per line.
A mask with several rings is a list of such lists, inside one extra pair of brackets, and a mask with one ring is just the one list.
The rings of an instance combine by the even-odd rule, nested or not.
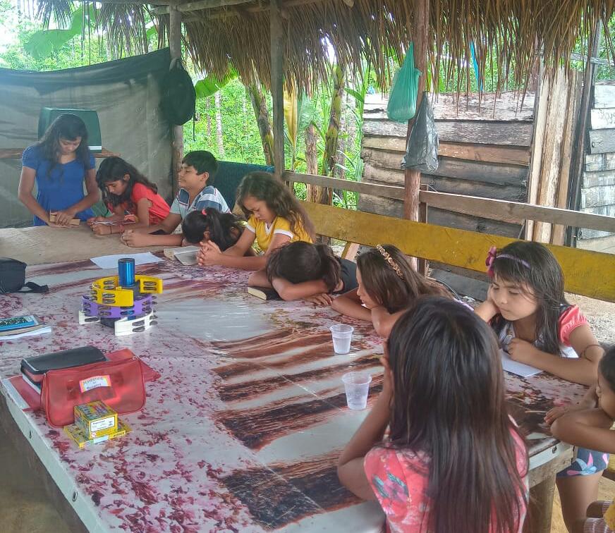
[[(199, 264), (262, 270), (277, 247), (296, 240), (311, 243), (314, 238), (314, 226), (299, 201), (269, 172), (247, 174), (237, 189), (237, 203), (248, 217), (246, 231), (236, 245), (224, 251), (214, 243), (205, 243), (199, 253)], [(255, 241), (264, 254), (244, 257)]]

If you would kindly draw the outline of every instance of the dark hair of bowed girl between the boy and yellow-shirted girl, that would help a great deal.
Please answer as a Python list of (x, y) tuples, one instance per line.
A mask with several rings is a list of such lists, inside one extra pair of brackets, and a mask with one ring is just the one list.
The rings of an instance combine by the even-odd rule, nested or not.
[(216, 243), (224, 252), (233, 246), (243, 233), (240, 220), (232, 213), (221, 213), (213, 207), (202, 211), (193, 211), (185, 216), (181, 223), (181, 231), (190, 244), (200, 243), (205, 235)]

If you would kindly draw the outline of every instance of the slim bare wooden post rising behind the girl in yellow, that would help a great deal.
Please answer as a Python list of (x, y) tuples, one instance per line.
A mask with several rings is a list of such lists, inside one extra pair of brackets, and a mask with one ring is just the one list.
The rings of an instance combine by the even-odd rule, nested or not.
[(272, 100), (274, 111), (274, 166), (275, 175), (284, 174), (284, 32), (280, 0), (269, 4), (269, 33), (271, 35)]

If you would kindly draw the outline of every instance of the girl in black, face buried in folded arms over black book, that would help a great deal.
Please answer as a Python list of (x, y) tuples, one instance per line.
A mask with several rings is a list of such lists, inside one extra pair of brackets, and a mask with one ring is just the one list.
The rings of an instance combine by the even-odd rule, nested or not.
[(357, 266), (335, 257), (327, 245), (296, 241), (274, 250), (265, 271), (250, 274), (248, 284), (273, 287), (282, 300), (308, 300), (331, 304), (331, 294), (357, 286)]

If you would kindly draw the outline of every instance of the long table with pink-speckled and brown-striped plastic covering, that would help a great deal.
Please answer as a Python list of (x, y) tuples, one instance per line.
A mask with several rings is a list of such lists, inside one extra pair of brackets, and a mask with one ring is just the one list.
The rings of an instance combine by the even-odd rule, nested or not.
[[(1, 236), (1, 235), (0, 235)], [(183, 267), (165, 259), (137, 268), (159, 276), (158, 324), (115, 337), (78, 326), (80, 296), (113, 274), (87, 260), (40, 264), (28, 279), (47, 295), (2, 295), (1, 314), (37, 314), (52, 332), (0, 343), (0, 377), (22, 357), (95, 345), (130, 348), (161, 377), (146, 384), (145, 408), (121, 418), (127, 436), (79, 450), (40, 412), (23, 410), (0, 381), (0, 417), (46, 480), (73, 529), (107, 532), (279, 530), (379, 531), (384, 517), (340, 486), (336, 458), (367, 411), (351, 411), (341, 385), (348, 369), (372, 373), (370, 404), (382, 387), (382, 339), (355, 326), (350, 355), (334, 355), (329, 325), (341, 318), (303, 302), (263, 302), (245, 292), (248, 273)], [(548, 531), (554, 474), (571, 461), (542, 424), (555, 399), (583, 387), (540, 374), (506, 374), (509, 405), (530, 443), (532, 530)], [(368, 405), (369, 407), (369, 405)]]

